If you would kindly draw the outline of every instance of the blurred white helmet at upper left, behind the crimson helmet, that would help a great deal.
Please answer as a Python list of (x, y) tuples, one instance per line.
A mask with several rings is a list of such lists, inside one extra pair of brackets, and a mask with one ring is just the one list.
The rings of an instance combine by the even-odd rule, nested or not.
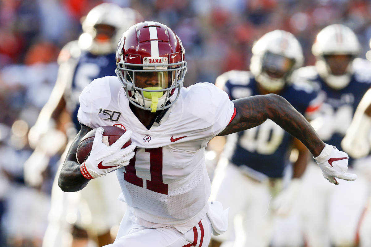
[(141, 19), (137, 11), (114, 3), (94, 7), (82, 21), (79, 46), (96, 55), (113, 53), (121, 34)]

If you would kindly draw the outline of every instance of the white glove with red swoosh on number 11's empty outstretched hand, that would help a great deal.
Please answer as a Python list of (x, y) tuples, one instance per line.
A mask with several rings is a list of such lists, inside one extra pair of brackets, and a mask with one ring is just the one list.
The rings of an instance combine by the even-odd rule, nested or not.
[(331, 183), (339, 184), (336, 178), (348, 181), (357, 178), (357, 174), (347, 173), (348, 158), (347, 153), (339, 151), (335, 146), (325, 144), (322, 152), (314, 159), (321, 168), (322, 175)]

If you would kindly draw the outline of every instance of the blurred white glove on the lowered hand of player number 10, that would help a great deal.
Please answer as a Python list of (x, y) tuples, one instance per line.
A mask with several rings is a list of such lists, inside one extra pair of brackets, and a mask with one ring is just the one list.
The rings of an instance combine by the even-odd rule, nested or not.
[(286, 217), (292, 210), (301, 190), (302, 181), (300, 178), (292, 178), (289, 185), (273, 198), (273, 212), (281, 217)]

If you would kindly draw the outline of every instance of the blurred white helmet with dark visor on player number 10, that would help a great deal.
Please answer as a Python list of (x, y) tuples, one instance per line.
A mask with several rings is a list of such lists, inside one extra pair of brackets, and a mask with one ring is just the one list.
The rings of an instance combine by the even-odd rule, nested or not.
[(303, 65), (302, 47), (293, 34), (274, 30), (264, 34), (252, 48), (250, 71), (266, 90), (283, 89), (293, 70)]

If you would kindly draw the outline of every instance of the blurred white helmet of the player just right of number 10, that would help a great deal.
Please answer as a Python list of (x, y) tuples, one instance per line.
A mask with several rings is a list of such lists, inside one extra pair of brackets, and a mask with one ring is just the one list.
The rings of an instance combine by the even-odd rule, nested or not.
[[(360, 45), (354, 32), (342, 24), (332, 24), (322, 29), (316, 37), (312, 46), (312, 53), (316, 56), (316, 69), (319, 76), (333, 89), (343, 89), (351, 79), (353, 69), (352, 62), (360, 52)], [(345, 55), (346, 61), (344, 71), (334, 73), (335, 67), (330, 66), (329, 59), (334, 55)], [(336, 57), (333, 58), (336, 60)]]

